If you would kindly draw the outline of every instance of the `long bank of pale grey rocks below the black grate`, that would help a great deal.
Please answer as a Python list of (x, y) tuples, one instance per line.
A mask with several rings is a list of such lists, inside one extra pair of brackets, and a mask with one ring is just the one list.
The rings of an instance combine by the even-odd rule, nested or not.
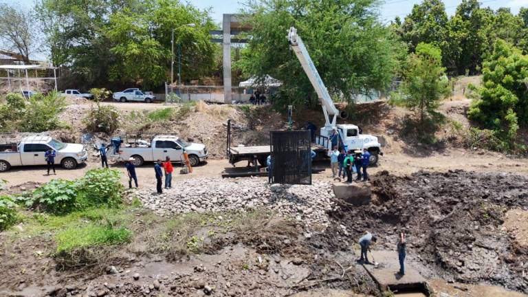
[(265, 206), (294, 218), (308, 227), (326, 228), (333, 203), (330, 183), (314, 181), (306, 185), (269, 185), (265, 179), (188, 179), (173, 182), (173, 188), (157, 195), (151, 189), (137, 189), (131, 197), (162, 215), (185, 212), (225, 212)]

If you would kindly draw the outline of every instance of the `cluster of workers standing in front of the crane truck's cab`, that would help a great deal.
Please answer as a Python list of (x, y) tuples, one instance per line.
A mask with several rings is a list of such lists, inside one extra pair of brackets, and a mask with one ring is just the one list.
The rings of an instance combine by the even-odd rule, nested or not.
[[(363, 151), (349, 150), (346, 152), (344, 148), (341, 151), (338, 150), (338, 146), (333, 147), (333, 151), (329, 153), (330, 156), (330, 168), (332, 170), (332, 177), (345, 177), (347, 176), (347, 182), (352, 182), (353, 173), (357, 173), (356, 181), (369, 180), (369, 174), (366, 172), (366, 168), (369, 168), (369, 162), (371, 159), (371, 153), (364, 148)], [(363, 171), (363, 173), (362, 173)]]

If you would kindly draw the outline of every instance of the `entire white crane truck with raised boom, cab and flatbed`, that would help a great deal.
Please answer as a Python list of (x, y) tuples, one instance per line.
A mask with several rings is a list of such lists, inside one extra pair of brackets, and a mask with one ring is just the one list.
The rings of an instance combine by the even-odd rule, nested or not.
[[(322, 82), (319, 73), (317, 72), (314, 62), (311, 61), (310, 55), (306, 50), (303, 39), (297, 35), (296, 28), (292, 27), (288, 31), (287, 39), (289, 45), (295, 52), (295, 55), (300, 61), (300, 65), (307, 74), (311, 85), (316, 89), (319, 101), (322, 106), (322, 113), (325, 114), (325, 126), (321, 127), (320, 135), (316, 135), (315, 143), (312, 143), (311, 149), (320, 155), (331, 150), (331, 141), (329, 137), (332, 130), (338, 131), (344, 148), (348, 150), (363, 150), (366, 148), (370, 153), (370, 164), (377, 164), (379, 155), (383, 155), (381, 151), (381, 144), (377, 137), (373, 135), (363, 134), (361, 129), (354, 124), (336, 124), (337, 118), (347, 118), (344, 111), (339, 111), (328, 93), (325, 83)], [(270, 155), (270, 146), (231, 146), (231, 120), (228, 120), (228, 138), (227, 138), (227, 155), (229, 162), (234, 164), (242, 160), (258, 161), (262, 166), (265, 166), (266, 158)]]

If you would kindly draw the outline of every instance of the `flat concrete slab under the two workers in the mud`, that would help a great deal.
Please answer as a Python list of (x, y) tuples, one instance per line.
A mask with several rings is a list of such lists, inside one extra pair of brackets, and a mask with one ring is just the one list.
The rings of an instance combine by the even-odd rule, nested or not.
[[(397, 274), (399, 271), (398, 254), (395, 251), (373, 251), (374, 259), (379, 265), (364, 264), (365, 270), (369, 272), (380, 289), (386, 291), (391, 289), (426, 289), (426, 279), (417, 270), (406, 263), (405, 275)], [(369, 258), (371, 254), (369, 253)], [(369, 259), (372, 261), (372, 259)]]

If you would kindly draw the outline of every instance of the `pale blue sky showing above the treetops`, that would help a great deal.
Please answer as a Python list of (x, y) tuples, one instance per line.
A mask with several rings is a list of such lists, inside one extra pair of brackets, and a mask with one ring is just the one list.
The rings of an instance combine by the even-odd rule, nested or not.
[[(206, 9), (212, 8), (212, 18), (217, 23), (221, 23), (222, 14), (236, 13), (243, 8), (245, 0), (184, 0), (192, 3), (197, 8)], [(0, 2), (7, 2), (14, 5), (22, 5), (23, 7), (32, 7), (34, 0), (0, 0)], [(412, 10), (412, 6), (420, 3), (421, 0), (386, 0), (380, 7), (380, 14), (384, 21), (390, 21), (394, 17), (399, 16), (403, 19)], [(511, 12), (515, 14), (519, 8), (528, 7), (528, 0), (481, 0), (484, 7), (489, 6), (496, 10), (500, 7), (509, 7)], [(449, 15), (454, 14), (456, 5), (461, 3), (461, 0), (444, 0), (446, 10)]]

